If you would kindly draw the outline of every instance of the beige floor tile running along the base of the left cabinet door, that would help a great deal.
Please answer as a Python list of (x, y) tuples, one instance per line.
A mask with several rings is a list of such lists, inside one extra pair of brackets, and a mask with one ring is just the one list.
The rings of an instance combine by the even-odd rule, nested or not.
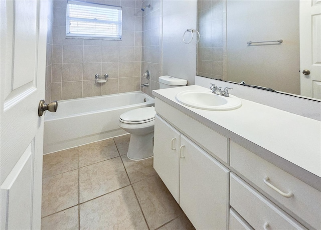
[(154, 175), (133, 184), (150, 229), (155, 229), (183, 212), (161, 178)]

